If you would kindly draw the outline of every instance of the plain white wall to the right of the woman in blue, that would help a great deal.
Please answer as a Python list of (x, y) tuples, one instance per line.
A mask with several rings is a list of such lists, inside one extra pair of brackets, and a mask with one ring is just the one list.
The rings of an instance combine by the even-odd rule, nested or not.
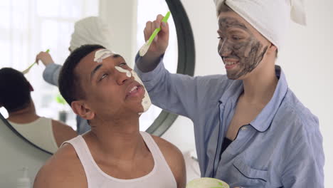
[(331, 0), (307, 1), (308, 25), (306, 28), (292, 25), (289, 46), (279, 59), (290, 88), (319, 118), (324, 137), (325, 187), (333, 187), (332, 6)]

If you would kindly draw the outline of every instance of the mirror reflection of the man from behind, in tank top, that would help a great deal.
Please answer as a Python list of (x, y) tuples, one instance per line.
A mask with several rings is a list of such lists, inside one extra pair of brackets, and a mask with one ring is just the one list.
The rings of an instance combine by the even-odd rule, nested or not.
[(0, 69), (0, 107), (9, 113), (7, 120), (23, 137), (48, 152), (77, 136), (72, 127), (36, 114), (31, 99), (33, 87), (24, 75), (13, 68)]

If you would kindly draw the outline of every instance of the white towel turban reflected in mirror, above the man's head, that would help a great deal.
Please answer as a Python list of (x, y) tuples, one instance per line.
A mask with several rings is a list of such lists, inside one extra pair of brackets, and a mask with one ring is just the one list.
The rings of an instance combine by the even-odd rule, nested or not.
[(111, 49), (111, 29), (98, 17), (91, 16), (75, 22), (74, 32), (70, 40), (70, 50), (84, 44), (99, 44)]

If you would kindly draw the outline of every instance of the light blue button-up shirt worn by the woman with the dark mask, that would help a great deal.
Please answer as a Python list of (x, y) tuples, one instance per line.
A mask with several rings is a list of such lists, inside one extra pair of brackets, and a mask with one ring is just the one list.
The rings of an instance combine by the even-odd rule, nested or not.
[[(140, 61), (137, 56), (136, 63)], [(288, 88), (279, 66), (273, 98), (220, 155), (242, 80), (171, 74), (161, 62), (149, 73), (135, 71), (154, 105), (194, 122), (202, 177), (221, 179), (230, 187), (324, 187), (318, 119)]]

